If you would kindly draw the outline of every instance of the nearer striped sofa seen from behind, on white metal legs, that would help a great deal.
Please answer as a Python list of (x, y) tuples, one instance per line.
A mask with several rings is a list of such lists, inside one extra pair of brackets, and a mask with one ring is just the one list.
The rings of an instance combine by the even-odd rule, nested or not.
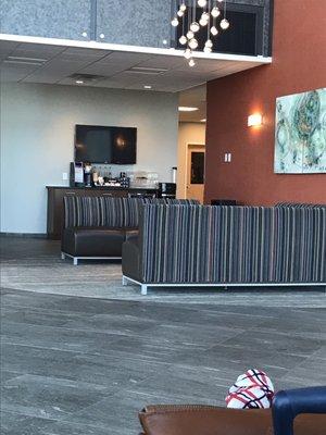
[(326, 208), (142, 208), (123, 282), (148, 286), (326, 285)]

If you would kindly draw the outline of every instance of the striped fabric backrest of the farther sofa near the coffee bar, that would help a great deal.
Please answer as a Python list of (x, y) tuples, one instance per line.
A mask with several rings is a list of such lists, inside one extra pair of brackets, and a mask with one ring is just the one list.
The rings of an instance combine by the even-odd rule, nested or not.
[(136, 228), (143, 203), (193, 204), (195, 200), (117, 197), (64, 197), (64, 227)]

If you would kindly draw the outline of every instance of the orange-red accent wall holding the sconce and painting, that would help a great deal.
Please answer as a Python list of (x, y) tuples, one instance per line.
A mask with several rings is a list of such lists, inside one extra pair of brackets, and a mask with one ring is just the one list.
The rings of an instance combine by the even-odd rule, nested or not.
[[(326, 203), (326, 174), (274, 174), (276, 97), (323, 87), (326, 0), (275, 0), (273, 64), (208, 84), (205, 201)], [(254, 112), (261, 127), (247, 126)]]

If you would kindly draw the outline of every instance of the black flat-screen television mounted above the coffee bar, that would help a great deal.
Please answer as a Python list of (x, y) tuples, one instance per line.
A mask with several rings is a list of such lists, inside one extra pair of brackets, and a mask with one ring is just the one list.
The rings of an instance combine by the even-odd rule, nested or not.
[(137, 128), (76, 125), (75, 161), (135, 164)]

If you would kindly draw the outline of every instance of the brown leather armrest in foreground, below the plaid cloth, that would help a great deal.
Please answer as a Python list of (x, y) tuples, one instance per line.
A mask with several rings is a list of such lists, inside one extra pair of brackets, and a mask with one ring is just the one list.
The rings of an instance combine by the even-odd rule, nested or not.
[(272, 435), (271, 410), (209, 406), (148, 407), (139, 413), (145, 435)]

